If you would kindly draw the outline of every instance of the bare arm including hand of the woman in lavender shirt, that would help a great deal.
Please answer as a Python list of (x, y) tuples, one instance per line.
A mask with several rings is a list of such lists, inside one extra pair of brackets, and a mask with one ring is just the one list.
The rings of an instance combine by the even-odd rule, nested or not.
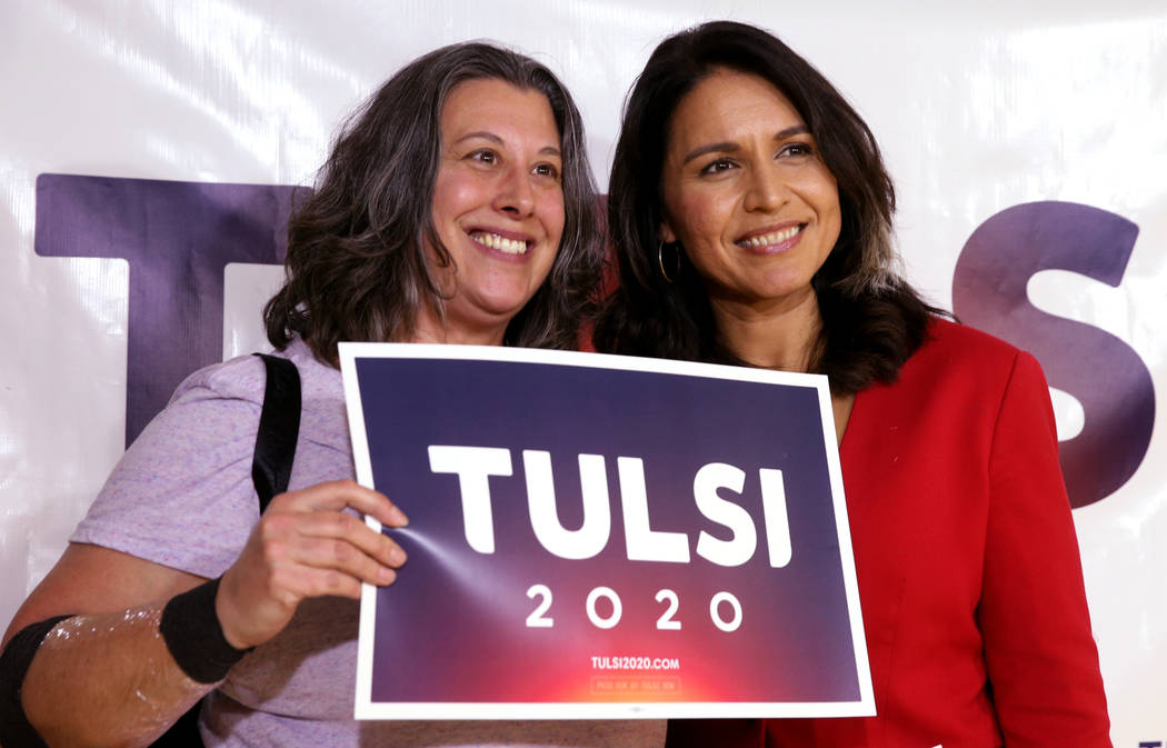
[[(352, 481), (277, 496), (219, 585), (215, 608), (231, 644), (268, 641), (306, 597), (359, 597), (362, 581), (393, 581), (405, 553), (345, 506), (405, 524), (387, 498)], [(202, 581), (107, 548), (65, 551), (5, 635), (82, 614), (46, 637), (25, 678), (25, 712), (47, 743), (148, 746), (214, 687), (182, 672), (158, 627), (166, 602)]]

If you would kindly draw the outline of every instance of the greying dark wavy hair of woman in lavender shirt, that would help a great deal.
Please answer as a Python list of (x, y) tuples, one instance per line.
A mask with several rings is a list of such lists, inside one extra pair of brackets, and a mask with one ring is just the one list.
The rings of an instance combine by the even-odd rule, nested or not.
[(508, 345), (574, 348), (594, 312), (603, 263), (595, 183), (584, 123), (546, 67), (482, 42), (424, 55), (386, 81), (345, 123), (315, 191), (288, 225), (285, 284), (264, 308), (267, 340), (282, 350), (299, 335), (336, 365), (340, 341), (406, 341), (421, 303), (443, 296), (426, 259), (453, 261), (433, 223), (441, 155), (441, 112), (467, 81), (499, 79), (547, 97), (562, 152), (565, 224), (547, 280), (511, 320)]

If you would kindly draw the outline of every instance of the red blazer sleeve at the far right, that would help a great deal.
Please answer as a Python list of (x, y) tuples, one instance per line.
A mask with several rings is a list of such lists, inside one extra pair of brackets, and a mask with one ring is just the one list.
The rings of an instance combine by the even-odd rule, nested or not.
[(1028, 354), (1019, 354), (1001, 400), (990, 490), (978, 617), (1005, 743), (1109, 748), (1049, 390)]

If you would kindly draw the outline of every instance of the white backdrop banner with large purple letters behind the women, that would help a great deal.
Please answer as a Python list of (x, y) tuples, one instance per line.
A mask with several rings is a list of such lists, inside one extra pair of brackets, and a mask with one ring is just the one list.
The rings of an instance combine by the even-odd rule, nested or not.
[[(380, 81), (455, 41), (531, 54), (576, 96), (603, 188), (655, 43), (731, 18), (777, 33), (867, 119), (909, 279), (1044, 366), (1113, 741), (1167, 746), (1167, 7), (914, 5), (6, 2), (0, 624), (176, 377), (266, 348), (288, 191)], [(258, 218), (224, 231), (240, 205)]]

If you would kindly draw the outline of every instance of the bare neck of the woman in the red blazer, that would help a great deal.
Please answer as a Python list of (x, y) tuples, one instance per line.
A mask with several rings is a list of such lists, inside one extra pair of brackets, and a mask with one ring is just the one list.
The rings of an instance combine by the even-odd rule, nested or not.
[(797, 298), (766, 303), (711, 300), (721, 343), (746, 363), (781, 371), (810, 370), (823, 329), (818, 298), (810, 288)]

